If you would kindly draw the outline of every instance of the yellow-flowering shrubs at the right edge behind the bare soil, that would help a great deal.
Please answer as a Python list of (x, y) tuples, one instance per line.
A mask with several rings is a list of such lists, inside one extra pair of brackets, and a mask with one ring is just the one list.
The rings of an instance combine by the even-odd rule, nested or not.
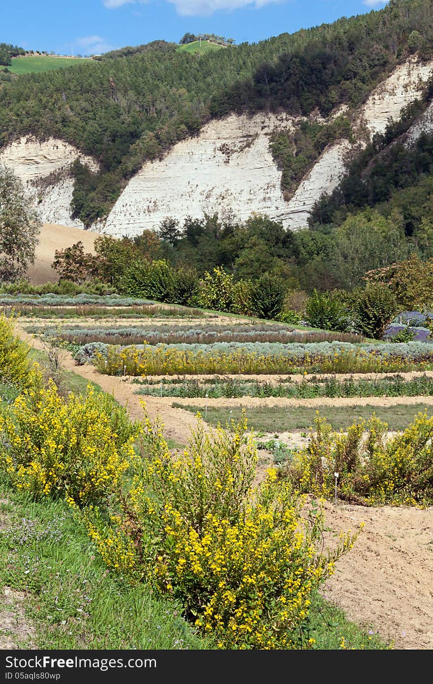
[(433, 501), (433, 417), (419, 413), (401, 434), (372, 415), (334, 432), (317, 415), (309, 444), (286, 476), (302, 492), (363, 505), (426, 505)]

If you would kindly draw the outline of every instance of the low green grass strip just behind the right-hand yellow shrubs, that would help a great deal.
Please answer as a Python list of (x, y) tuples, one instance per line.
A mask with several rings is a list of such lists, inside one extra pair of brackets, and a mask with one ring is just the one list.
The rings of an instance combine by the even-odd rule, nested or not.
[[(183, 408), (196, 413), (200, 411), (205, 415), (203, 405), (187, 405), (174, 402), (173, 408)], [(207, 407), (206, 421), (210, 425), (225, 425), (227, 421), (239, 421), (242, 415), (242, 406)], [(389, 430), (405, 430), (417, 413), (425, 410), (425, 404), (410, 404), (397, 406), (259, 406), (247, 408), (248, 425), (257, 432), (300, 432), (309, 430), (313, 426), (317, 411), (332, 425), (334, 430), (345, 430), (354, 419), (369, 419), (373, 413), (388, 423)], [(428, 406), (428, 415), (433, 415), (433, 406)]]

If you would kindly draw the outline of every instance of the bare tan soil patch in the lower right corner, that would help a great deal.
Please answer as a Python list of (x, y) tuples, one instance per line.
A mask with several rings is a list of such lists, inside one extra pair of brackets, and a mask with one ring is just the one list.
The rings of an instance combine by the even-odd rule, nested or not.
[(433, 508), (326, 503), (326, 522), (334, 532), (365, 522), (326, 583), (326, 598), (395, 648), (433, 648)]

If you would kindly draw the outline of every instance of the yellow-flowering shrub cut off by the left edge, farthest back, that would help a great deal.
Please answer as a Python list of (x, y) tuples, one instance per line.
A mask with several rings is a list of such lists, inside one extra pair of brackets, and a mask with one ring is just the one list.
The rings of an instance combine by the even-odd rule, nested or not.
[(0, 314), (0, 382), (21, 389), (28, 384), (30, 347), (14, 334), (14, 319)]

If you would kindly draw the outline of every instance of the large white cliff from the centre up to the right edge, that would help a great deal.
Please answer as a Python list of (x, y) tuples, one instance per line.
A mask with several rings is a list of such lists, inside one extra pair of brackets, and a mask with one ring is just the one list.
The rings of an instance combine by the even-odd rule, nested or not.
[(354, 151), (375, 133), (383, 133), (389, 120), (399, 119), (402, 109), (421, 94), (432, 71), (433, 62), (422, 64), (416, 58), (398, 66), (354, 116), (356, 144), (341, 140), (329, 146), (289, 202), (281, 194), (269, 136), (274, 127), (291, 128), (296, 120), (232, 115), (177, 144), (162, 161), (146, 163), (122, 192), (103, 230), (134, 235), (157, 228), (167, 215), (183, 220), (217, 210), (231, 210), (240, 220), (258, 211), (281, 220), (287, 228), (305, 226), (319, 197), (337, 187)]

